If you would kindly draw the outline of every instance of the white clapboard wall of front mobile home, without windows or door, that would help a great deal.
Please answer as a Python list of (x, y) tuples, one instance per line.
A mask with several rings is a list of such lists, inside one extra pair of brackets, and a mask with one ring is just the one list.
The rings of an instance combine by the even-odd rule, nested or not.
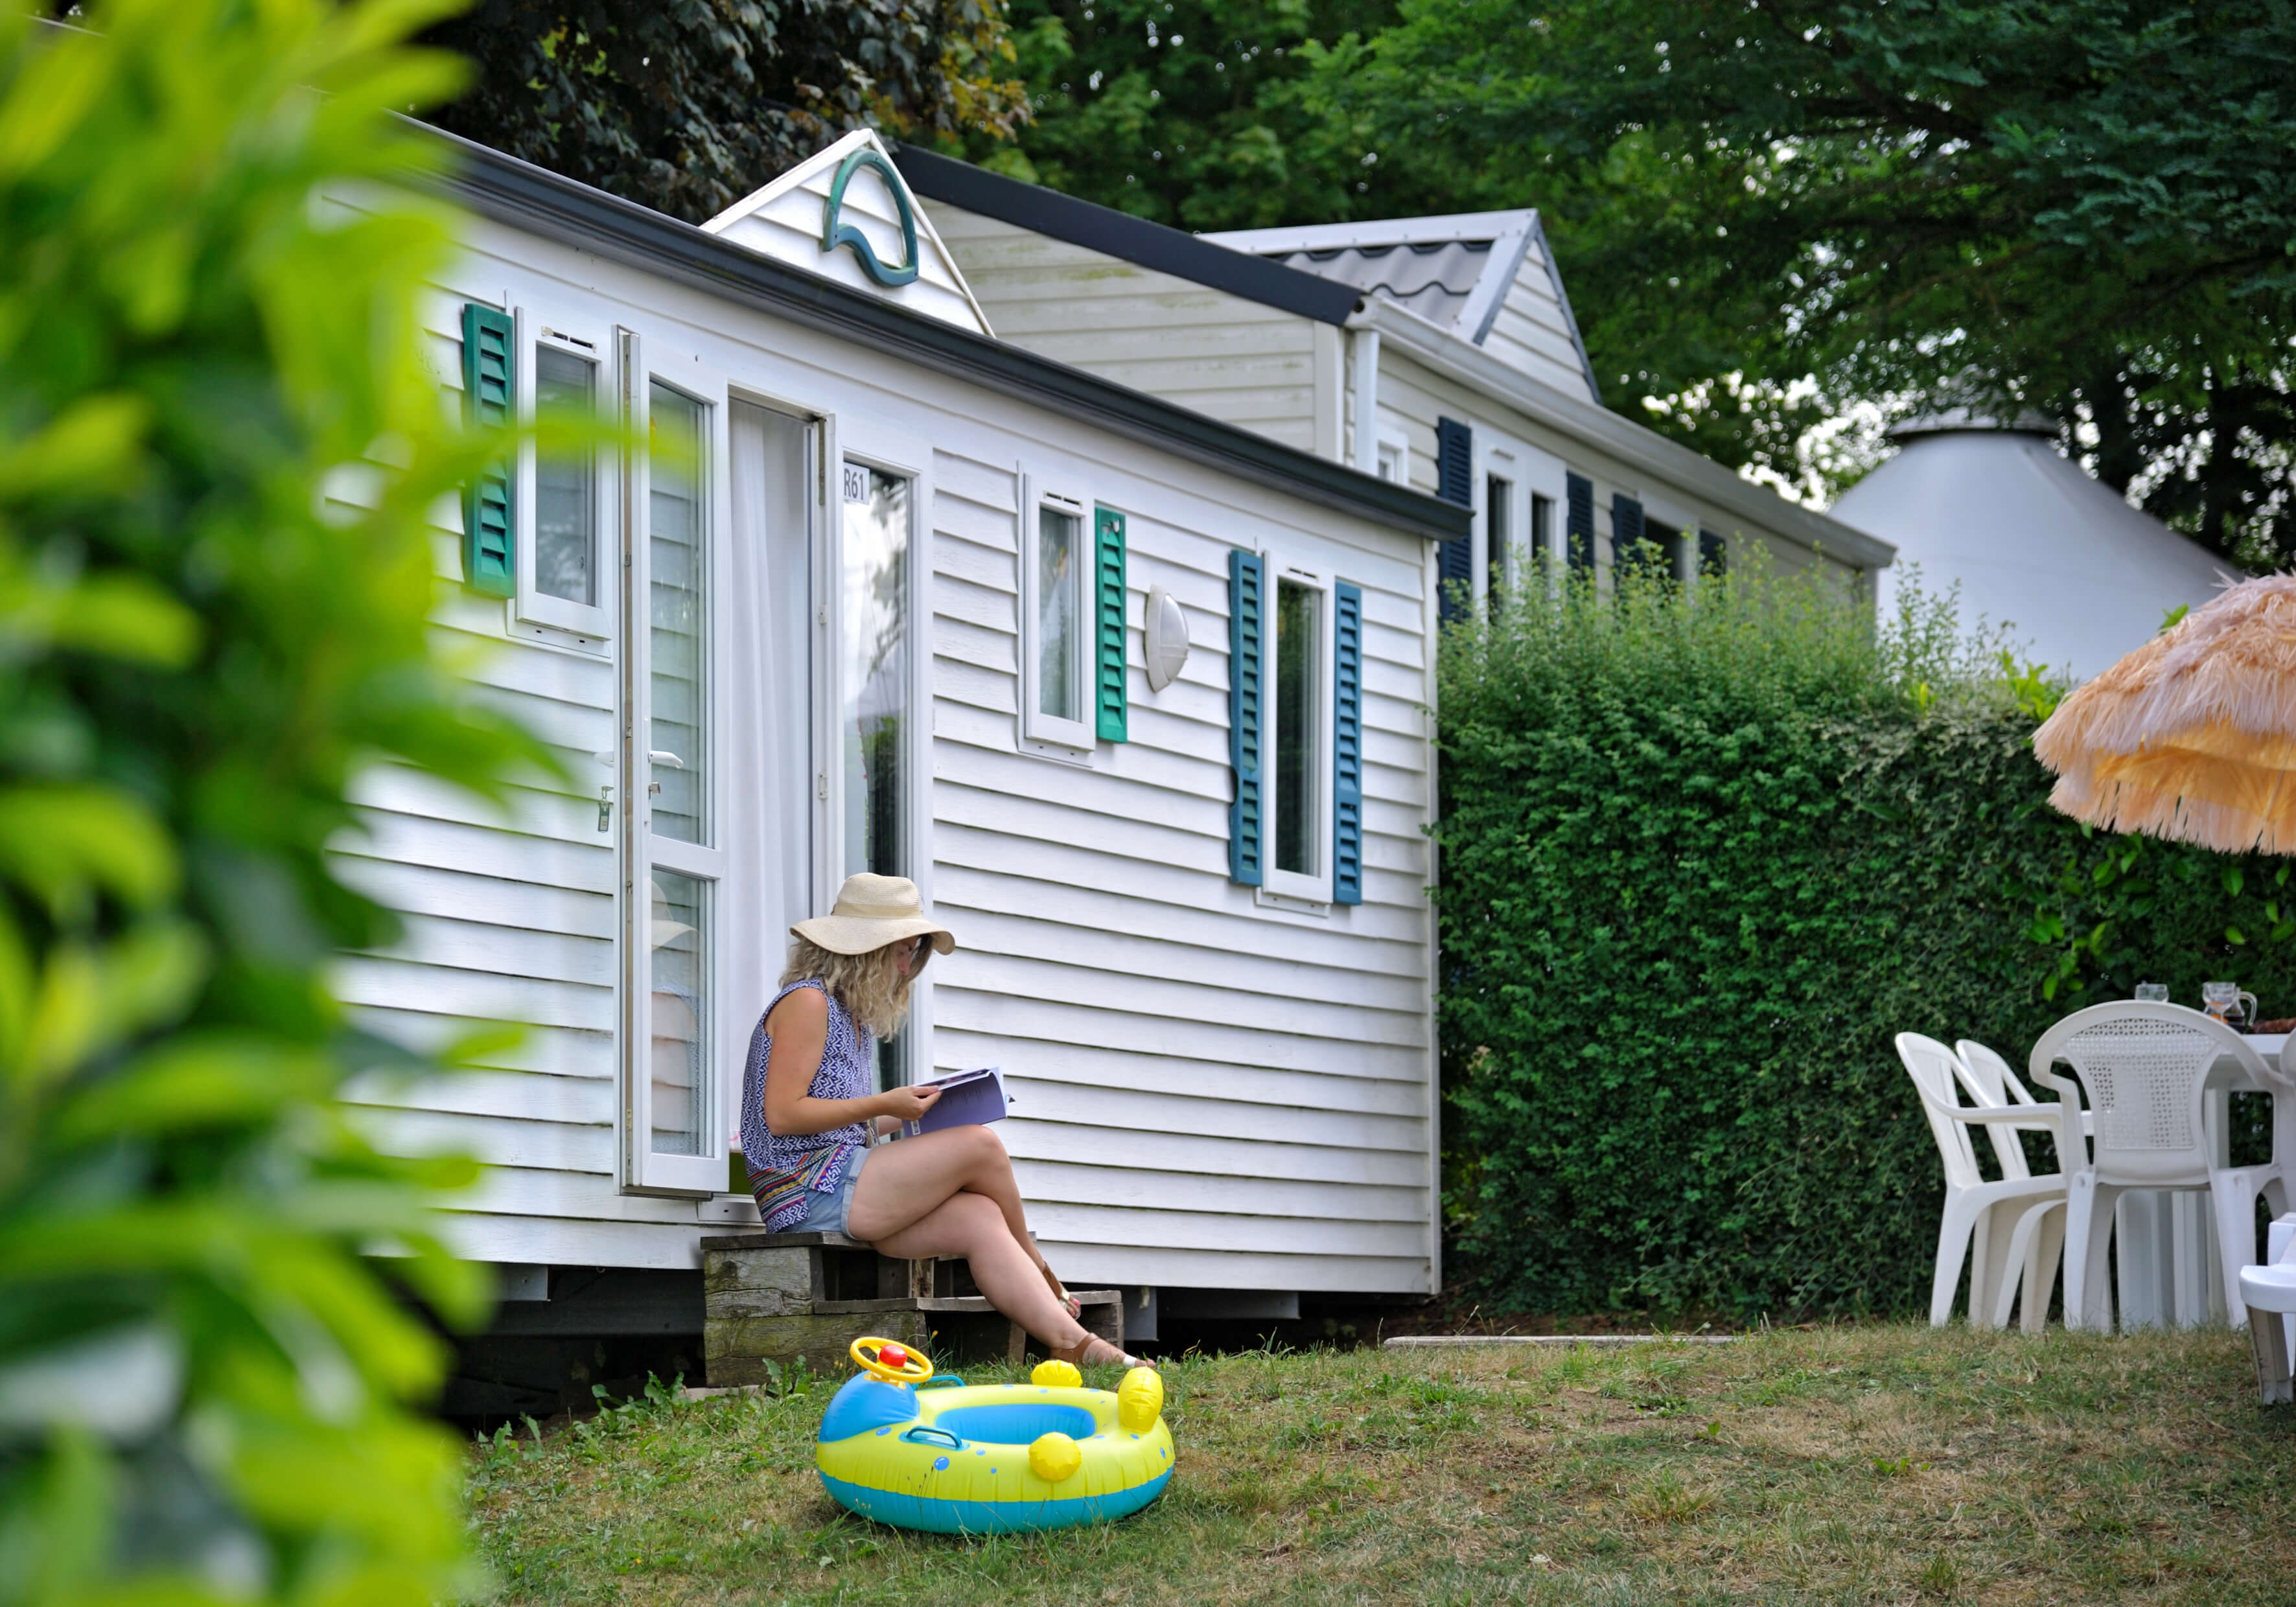
[[(914, 464), (932, 652), (918, 882), (962, 944), (928, 969), (921, 1017), (939, 1065), (1010, 1070), (1019, 1113), (1001, 1132), (1061, 1274), (1428, 1288), (1424, 542), (491, 225), (429, 315), (448, 390), (461, 301), (505, 287), (691, 349), (737, 388), (833, 418), (845, 450)], [(1134, 739), (1102, 744), (1091, 767), (1017, 742), (1019, 471), (1130, 514), (1134, 666), (1153, 583), (1194, 638), (1166, 691), (1134, 668)], [(1366, 902), (1327, 918), (1263, 909), (1226, 879), (1231, 542), (1364, 588)], [(507, 810), (406, 771), (360, 783), (367, 831), (340, 845), (344, 875), (409, 921), (390, 953), (340, 962), (358, 1022), (425, 1047), (496, 1019), (528, 1033), (473, 1072), (372, 1077), (354, 1097), (390, 1148), (489, 1162), (455, 1217), (466, 1253), (691, 1267), (696, 1240), (723, 1228), (691, 1198), (615, 1185), (618, 861), (597, 831), (592, 758), (615, 739), (615, 668), (512, 638), (505, 606), (459, 585), (452, 528), (436, 551), (441, 645), (574, 781), (519, 790)], [(730, 987), (758, 1006), (767, 994), (765, 978)], [(735, 1084), (742, 1049), (728, 1042), (719, 1065)]]

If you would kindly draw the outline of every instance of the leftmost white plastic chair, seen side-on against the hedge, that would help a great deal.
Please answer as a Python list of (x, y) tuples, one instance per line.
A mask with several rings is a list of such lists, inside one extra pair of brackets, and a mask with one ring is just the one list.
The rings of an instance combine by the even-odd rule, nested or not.
[[(1954, 1288), (1961, 1283), (1961, 1265), (1968, 1260), (1970, 1327), (2007, 1327), (2018, 1274), (2032, 1270), (2043, 1221), (2064, 1205), (2064, 1173), (2004, 1175), (1998, 1182), (1986, 1182), (1977, 1169), (1970, 1125), (2053, 1120), (2057, 1107), (1961, 1104), (1956, 1090), (1968, 1079), (1968, 1070), (1936, 1038), (1899, 1033), (1896, 1058), (1906, 1063), (1906, 1074), (1913, 1077), (1913, 1086), (1922, 1095), (1922, 1113), (1929, 1116), (1929, 1132), (1938, 1139), (1938, 1159), (1945, 1162), (1945, 1217), (1938, 1224), (1938, 1270), (1929, 1286), (1929, 1325), (1945, 1327), (1952, 1318)], [(2025, 1157), (2018, 1155), (2018, 1173), (2023, 1171)], [(2062, 1228), (2053, 1237), (2062, 1237)], [(2055, 1251), (2048, 1260), (2055, 1270)], [(2034, 1274), (2034, 1283), (2025, 1292), (2025, 1327), (2039, 1327), (2046, 1315), (2048, 1283)]]

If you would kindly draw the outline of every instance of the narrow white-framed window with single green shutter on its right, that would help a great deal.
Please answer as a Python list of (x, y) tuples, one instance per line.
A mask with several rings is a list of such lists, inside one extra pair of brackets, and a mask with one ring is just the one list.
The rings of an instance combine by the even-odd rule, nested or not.
[(1022, 744), (1084, 758), (1093, 725), (1093, 507), (1024, 482)]

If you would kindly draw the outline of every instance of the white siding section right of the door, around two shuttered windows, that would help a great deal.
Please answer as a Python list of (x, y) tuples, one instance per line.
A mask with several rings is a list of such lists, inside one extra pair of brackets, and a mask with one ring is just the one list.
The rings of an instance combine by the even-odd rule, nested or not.
[[(1180, 680), (1132, 675), (1132, 742), (1019, 751), (1015, 475), (934, 459), (934, 898), (960, 937), (944, 1068), (1001, 1061), (1038, 1237), (1123, 1283), (1419, 1290), (1428, 1270), (1428, 808), (1421, 562), (1288, 533), (1364, 585), (1366, 902), (1325, 918), (1226, 879), (1228, 542), (1130, 512)], [(1120, 505), (1120, 503), (1118, 503)]]

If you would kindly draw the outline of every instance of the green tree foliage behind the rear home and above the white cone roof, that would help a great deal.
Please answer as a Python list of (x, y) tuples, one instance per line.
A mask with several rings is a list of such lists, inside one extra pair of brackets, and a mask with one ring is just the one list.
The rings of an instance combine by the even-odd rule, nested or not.
[(1945, 388), (2071, 420), (2216, 551), (2296, 551), (2278, 0), (1015, 0), (1015, 32), (1001, 161), (1093, 200), (1538, 207), (1605, 395), (1722, 461), (1825, 494), (1809, 425)]

